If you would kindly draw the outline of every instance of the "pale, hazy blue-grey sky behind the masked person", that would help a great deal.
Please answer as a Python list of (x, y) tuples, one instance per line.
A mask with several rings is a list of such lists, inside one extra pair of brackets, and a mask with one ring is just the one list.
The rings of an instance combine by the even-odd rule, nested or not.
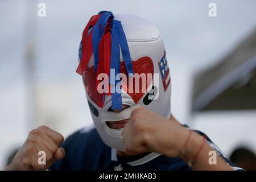
[[(38, 16), (39, 2), (46, 4), (46, 17)], [(215, 18), (208, 15), (211, 2), (217, 5)], [(163, 37), (172, 77), (172, 113), (186, 123), (191, 118), (193, 74), (218, 63), (253, 31), (255, 7), (253, 0), (1, 1), (0, 168), (9, 151), (22, 144), (31, 129), (27, 50), (35, 52), (33, 79), (40, 105), (38, 118), (42, 120), (35, 123), (52, 125), (67, 136), (92, 124), (81, 77), (75, 73), (88, 19), (101, 10), (141, 16), (155, 24)], [(57, 124), (51, 123), (54, 119)], [(209, 129), (203, 125), (195, 127)], [(228, 153), (229, 148), (225, 151)]]

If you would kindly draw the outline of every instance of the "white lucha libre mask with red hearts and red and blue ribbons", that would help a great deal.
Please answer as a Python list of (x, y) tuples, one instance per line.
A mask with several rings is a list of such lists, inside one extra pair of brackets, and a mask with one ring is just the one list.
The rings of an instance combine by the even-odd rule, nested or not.
[[(151, 23), (110, 11), (92, 16), (82, 34), (79, 61), (77, 73), (84, 81), (94, 125), (109, 147), (124, 151), (122, 127), (138, 106), (170, 117), (170, 69), (163, 40)], [(108, 76), (104, 82), (101, 73)], [(146, 75), (146, 80), (135, 74)]]

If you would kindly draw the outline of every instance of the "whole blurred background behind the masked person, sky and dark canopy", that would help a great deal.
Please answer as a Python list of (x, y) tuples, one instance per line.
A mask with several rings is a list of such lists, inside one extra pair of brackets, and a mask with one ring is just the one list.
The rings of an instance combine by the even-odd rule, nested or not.
[(246, 151), (255, 158), (255, 9), (254, 0), (0, 1), (0, 169), (39, 125), (64, 137), (93, 125), (75, 71), (82, 31), (101, 10), (154, 23), (171, 70), (172, 113), (237, 164)]

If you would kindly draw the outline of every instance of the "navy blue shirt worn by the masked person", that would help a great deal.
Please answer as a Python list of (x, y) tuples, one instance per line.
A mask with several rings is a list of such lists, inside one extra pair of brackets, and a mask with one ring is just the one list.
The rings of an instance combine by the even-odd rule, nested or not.
[[(187, 126), (185, 126), (187, 127)], [(202, 132), (196, 131), (205, 136), (208, 144), (216, 150), (217, 154), (229, 163), (229, 160), (221, 154), (217, 146)], [(65, 157), (49, 170), (103, 170), (103, 171), (178, 171), (191, 170), (191, 168), (180, 158), (169, 158), (154, 152), (137, 156), (122, 158), (117, 155), (114, 148), (106, 146), (102, 142), (95, 128), (82, 129), (69, 136), (63, 143)], [(233, 167), (234, 169), (241, 169)]]

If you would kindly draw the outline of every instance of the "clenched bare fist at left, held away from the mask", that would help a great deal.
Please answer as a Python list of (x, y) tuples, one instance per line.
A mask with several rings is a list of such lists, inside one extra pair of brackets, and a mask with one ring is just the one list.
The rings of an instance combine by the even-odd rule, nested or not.
[[(46, 170), (57, 160), (64, 158), (65, 151), (60, 147), (63, 140), (61, 134), (47, 126), (32, 130), (6, 170)], [(46, 164), (38, 162), (39, 151), (45, 152)]]

